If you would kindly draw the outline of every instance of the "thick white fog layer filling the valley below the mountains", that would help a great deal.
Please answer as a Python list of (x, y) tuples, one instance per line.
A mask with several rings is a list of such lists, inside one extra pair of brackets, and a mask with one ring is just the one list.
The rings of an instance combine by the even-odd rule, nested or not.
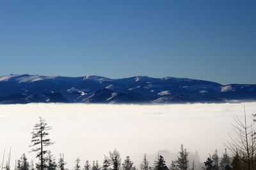
[(82, 166), (85, 160), (101, 164), (114, 148), (123, 160), (130, 155), (138, 164), (143, 153), (179, 152), (181, 143), (189, 152), (198, 151), (203, 161), (215, 149), (223, 152), (233, 117), (243, 117), (244, 106), (252, 120), (256, 103), (0, 105), (0, 159), (4, 148), (12, 146), (12, 167), (22, 153), (36, 160), (28, 146), (33, 125), (41, 116), (52, 126), (49, 138), (55, 143), (49, 149), (56, 158), (64, 153), (70, 169), (77, 157)]

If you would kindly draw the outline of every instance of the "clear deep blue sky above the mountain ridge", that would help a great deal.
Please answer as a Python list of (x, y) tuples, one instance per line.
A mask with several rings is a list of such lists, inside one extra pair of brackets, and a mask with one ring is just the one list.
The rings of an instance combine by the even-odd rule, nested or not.
[(0, 75), (256, 83), (256, 1), (0, 1)]

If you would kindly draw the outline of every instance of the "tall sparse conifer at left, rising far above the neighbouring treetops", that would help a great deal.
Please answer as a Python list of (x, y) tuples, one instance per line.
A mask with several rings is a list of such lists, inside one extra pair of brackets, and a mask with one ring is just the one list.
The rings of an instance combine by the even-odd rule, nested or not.
[(32, 139), (30, 145), (31, 147), (35, 147), (31, 150), (31, 152), (38, 152), (36, 158), (38, 157), (40, 163), (38, 164), (38, 168), (43, 170), (45, 168), (45, 158), (44, 155), (47, 153), (45, 150), (45, 146), (52, 145), (51, 139), (47, 138), (49, 135), (48, 131), (51, 130), (52, 127), (47, 126), (45, 120), (42, 117), (39, 117), (38, 124), (35, 124), (33, 127)]

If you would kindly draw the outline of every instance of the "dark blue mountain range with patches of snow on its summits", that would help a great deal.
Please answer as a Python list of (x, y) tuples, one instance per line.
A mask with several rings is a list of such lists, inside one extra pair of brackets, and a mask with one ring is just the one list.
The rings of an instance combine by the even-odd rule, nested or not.
[(0, 76), (0, 103), (224, 103), (256, 100), (256, 85), (134, 76)]

